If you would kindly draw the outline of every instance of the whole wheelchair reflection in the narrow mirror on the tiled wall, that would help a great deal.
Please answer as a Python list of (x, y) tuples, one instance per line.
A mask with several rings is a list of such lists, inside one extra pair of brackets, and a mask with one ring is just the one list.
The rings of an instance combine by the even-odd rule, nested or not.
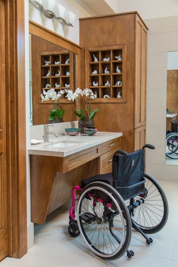
[(173, 120), (171, 131), (166, 131), (166, 155), (171, 159), (178, 158), (178, 122)]

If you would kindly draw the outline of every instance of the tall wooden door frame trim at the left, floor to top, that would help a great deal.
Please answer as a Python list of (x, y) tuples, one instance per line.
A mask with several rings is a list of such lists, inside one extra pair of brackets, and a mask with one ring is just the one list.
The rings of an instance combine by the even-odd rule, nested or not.
[(24, 0), (5, 1), (5, 12), (8, 253), (21, 258), (27, 253)]

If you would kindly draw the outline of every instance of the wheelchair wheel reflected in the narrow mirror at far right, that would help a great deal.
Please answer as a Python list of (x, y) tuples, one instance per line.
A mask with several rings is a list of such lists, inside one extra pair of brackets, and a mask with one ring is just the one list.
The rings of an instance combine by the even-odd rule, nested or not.
[[(174, 140), (174, 142), (172, 141), (172, 139)], [(168, 143), (170, 143), (168, 145)], [(175, 147), (172, 147), (172, 145), (175, 145)], [(177, 133), (169, 133), (166, 135), (166, 155), (167, 157), (169, 157), (170, 159), (177, 159), (178, 155), (177, 154), (177, 150), (178, 150), (178, 134)]]

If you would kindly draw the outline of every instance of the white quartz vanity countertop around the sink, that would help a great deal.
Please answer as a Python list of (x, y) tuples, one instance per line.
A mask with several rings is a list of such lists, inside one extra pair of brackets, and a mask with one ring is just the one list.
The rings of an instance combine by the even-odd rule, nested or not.
[[(77, 136), (68, 136), (67, 134), (56, 137), (50, 137), (48, 143), (40, 143), (31, 145), (28, 149), (28, 153), (31, 155), (44, 155), (53, 157), (66, 157), (68, 155), (77, 153), (84, 149), (96, 146), (98, 144), (110, 141), (114, 138), (122, 136), (122, 133), (110, 133), (110, 132), (97, 132), (94, 136), (88, 136), (86, 134), (79, 134)], [(51, 144), (57, 144), (60, 142), (76, 142), (68, 147), (51, 147)]]

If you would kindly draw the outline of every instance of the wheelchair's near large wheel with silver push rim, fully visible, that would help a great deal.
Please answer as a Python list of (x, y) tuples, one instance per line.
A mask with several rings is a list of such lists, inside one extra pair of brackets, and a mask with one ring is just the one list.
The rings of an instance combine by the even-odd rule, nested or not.
[(81, 192), (77, 222), (88, 247), (103, 259), (120, 258), (131, 240), (131, 219), (123, 198), (110, 185), (92, 182)]

